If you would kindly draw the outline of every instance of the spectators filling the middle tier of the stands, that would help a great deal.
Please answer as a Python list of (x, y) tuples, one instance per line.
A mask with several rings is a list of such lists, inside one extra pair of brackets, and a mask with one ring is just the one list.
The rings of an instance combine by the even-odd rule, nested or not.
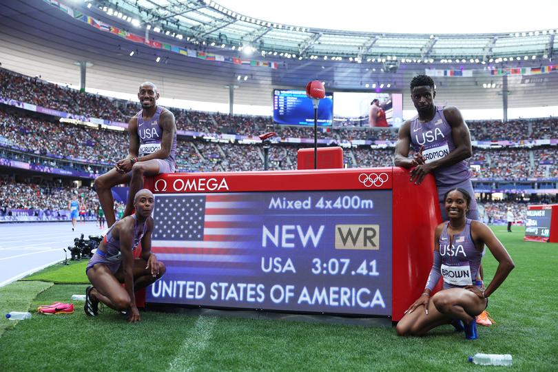
[[(253, 124), (253, 123), (252, 123)], [(309, 128), (294, 128), (303, 134)], [(360, 133), (362, 131), (350, 131)], [(372, 131), (382, 133), (382, 131)], [(395, 132), (386, 130), (385, 134)], [(335, 133), (335, 136), (343, 135)], [(127, 154), (127, 133), (96, 130), (91, 127), (47, 121), (18, 112), (0, 109), (0, 149), (23, 149), (37, 155), (32, 163), (60, 166), (92, 172), (91, 165), (112, 165)], [(263, 151), (259, 145), (213, 143), (202, 140), (182, 141), (177, 146), (177, 163), (180, 172), (238, 171), (263, 169)], [(269, 155), (269, 169), (295, 169), (297, 147), (274, 144)], [(49, 158), (48, 156), (53, 156)], [(56, 158), (56, 159), (55, 159)], [(63, 163), (60, 159), (72, 160)], [(18, 160), (17, 156), (15, 157)], [(56, 160), (55, 163), (53, 163)], [(471, 163), (475, 178), (548, 178), (558, 176), (558, 158), (554, 147), (529, 149), (475, 148)], [(353, 147), (344, 149), (347, 167), (387, 167), (393, 164), (393, 149)], [(99, 172), (96, 168), (95, 172)]]

